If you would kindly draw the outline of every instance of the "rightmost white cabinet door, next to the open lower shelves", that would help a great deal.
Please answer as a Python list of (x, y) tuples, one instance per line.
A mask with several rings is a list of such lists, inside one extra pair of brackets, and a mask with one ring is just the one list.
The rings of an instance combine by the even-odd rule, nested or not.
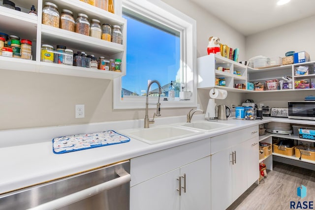
[[(232, 164), (232, 202), (247, 190), (247, 141), (231, 148), (234, 152), (234, 164)], [(232, 153), (231, 152), (231, 153)]]

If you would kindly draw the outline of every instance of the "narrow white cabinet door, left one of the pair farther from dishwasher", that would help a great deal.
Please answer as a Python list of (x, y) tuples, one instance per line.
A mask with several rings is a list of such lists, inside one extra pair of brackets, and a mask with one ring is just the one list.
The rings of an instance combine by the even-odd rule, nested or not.
[(211, 156), (211, 209), (225, 210), (232, 203), (231, 150)]

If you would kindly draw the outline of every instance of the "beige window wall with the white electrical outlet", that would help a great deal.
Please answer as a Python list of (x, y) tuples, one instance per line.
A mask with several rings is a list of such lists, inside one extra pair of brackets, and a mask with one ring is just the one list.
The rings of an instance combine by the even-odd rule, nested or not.
[[(197, 57), (206, 55), (209, 36), (219, 36), (223, 43), (240, 48), (245, 55), (245, 37), (196, 7), (189, 0), (166, 3), (197, 21)], [(78, 124), (113, 120), (144, 119), (145, 110), (113, 110), (113, 84), (110, 80), (70, 77), (0, 69), (0, 130), (39, 126)], [(198, 93), (198, 103), (205, 109), (207, 91)], [(234, 95), (235, 96), (235, 95)], [(235, 100), (240, 97), (226, 99)], [(206, 101), (206, 102), (204, 102)], [(223, 100), (221, 103), (225, 103)], [(220, 104), (221, 104), (220, 103)], [(85, 118), (75, 119), (75, 104), (85, 104)], [(190, 108), (165, 109), (161, 115), (182, 116)], [(150, 117), (152, 116), (150, 111)]]

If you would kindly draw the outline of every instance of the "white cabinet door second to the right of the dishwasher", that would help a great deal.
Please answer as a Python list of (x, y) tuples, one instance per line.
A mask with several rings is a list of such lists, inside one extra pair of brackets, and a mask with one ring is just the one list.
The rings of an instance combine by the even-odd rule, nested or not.
[[(211, 207), (211, 159), (210, 156), (181, 167), (186, 175), (186, 193), (181, 192), (181, 210), (210, 210)], [(182, 178), (182, 186), (184, 179)]]

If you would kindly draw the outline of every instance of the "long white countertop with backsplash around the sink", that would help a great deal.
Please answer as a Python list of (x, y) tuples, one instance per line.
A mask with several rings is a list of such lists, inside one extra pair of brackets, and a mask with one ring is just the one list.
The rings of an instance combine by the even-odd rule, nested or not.
[[(155, 120), (156, 124), (150, 125), (151, 127), (168, 123), (185, 122), (186, 116), (157, 118)], [(192, 121), (197, 120), (204, 120), (204, 115), (195, 115)], [(280, 118), (219, 120), (219, 122), (227, 123), (231, 126), (213, 132), (201, 132), (194, 136), (153, 145), (130, 138), (130, 142), (127, 143), (63, 154), (53, 153), (53, 138), (105, 130), (119, 132), (122, 129), (143, 127), (143, 120), (2, 130), (0, 131), (0, 194), (269, 121), (315, 124), (315, 121), (311, 120)]]

